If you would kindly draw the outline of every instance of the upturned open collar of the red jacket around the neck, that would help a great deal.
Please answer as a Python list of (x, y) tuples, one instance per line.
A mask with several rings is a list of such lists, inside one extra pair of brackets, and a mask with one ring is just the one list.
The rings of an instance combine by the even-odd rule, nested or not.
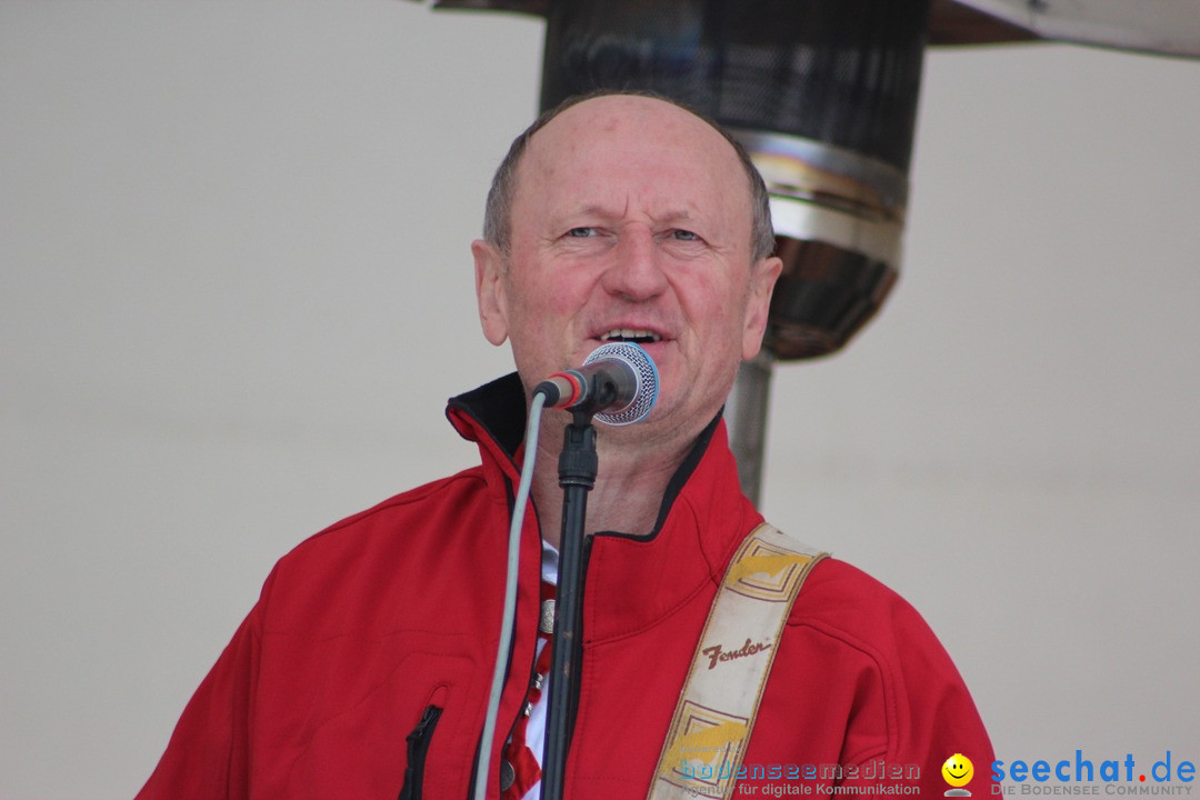
[[(524, 390), (516, 373), (450, 399), (458, 433), (479, 444), (485, 471), (518, 477)], [(511, 489), (504, 486), (505, 495)], [(715, 590), (746, 533), (762, 517), (742, 494), (718, 414), (676, 470), (648, 535), (598, 533), (590, 542), (584, 636), (590, 644), (667, 619), (697, 593)]]

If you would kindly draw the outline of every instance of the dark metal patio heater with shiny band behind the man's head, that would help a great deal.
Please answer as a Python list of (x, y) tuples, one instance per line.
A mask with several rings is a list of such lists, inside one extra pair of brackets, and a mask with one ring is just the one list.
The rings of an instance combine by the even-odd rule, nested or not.
[[(750, 151), (784, 270), (763, 353), (726, 405), (760, 499), (770, 377), (834, 353), (900, 273), (928, 44), (1057, 38), (1200, 56), (1200, 0), (438, 0), (546, 19), (541, 109), (595, 89), (697, 108)], [(1134, 7), (1135, 6), (1135, 7)]]

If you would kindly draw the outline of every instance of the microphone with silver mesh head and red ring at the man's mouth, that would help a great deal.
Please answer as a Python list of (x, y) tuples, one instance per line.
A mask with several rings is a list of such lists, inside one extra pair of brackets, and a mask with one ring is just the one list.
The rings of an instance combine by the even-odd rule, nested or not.
[(637, 344), (608, 342), (578, 369), (556, 372), (533, 391), (546, 397), (547, 408), (592, 411), (605, 425), (632, 425), (644, 420), (659, 398), (659, 368)]

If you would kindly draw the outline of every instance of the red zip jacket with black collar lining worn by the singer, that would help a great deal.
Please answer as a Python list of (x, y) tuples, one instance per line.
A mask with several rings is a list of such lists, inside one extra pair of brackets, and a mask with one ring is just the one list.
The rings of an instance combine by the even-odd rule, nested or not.
[[(448, 414), (482, 464), (281, 559), (139, 798), (395, 800), (406, 772), (409, 798), (468, 798), (499, 640), (523, 395), (510, 375), (452, 399)], [(646, 796), (716, 587), (761, 519), (718, 421), (672, 481), (650, 537), (592, 540), (568, 798)], [(497, 768), (533, 668), (540, 554), (530, 510)], [(854, 567), (817, 565), (779, 645), (740, 786), (761, 796), (768, 784), (808, 783), (820, 794), (853, 783), (854, 770), (878, 784), (882, 762), (906, 776), (892, 782), (899, 793), (919, 786), (928, 799), (948, 788), (941, 766), (955, 753), (976, 764), (966, 788), (988, 796), (991, 746), (932, 632)]]

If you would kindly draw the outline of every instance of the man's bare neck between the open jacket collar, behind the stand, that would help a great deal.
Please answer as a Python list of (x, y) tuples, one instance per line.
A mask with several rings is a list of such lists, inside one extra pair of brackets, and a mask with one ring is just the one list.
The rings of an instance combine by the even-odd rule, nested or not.
[[(550, 422), (550, 425), (554, 425)], [(619, 437), (613, 443), (599, 426), (596, 450), (600, 468), (595, 487), (588, 493), (586, 535), (598, 530), (619, 530), (646, 535), (654, 530), (667, 483), (683, 462), (692, 443), (631, 443), (632, 437)], [(563, 489), (558, 485), (558, 456), (562, 451), (563, 429), (544, 429), (539, 443), (538, 465), (533, 479), (533, 500), (538, 507), (542, 537), (560, 547)]]

